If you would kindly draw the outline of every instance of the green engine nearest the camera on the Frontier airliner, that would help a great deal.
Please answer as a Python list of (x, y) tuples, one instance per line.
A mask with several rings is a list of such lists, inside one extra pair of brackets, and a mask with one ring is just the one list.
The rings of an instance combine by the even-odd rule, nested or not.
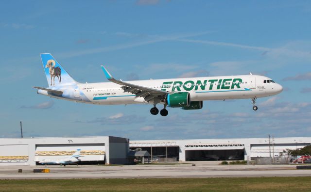
[(190, 94), (188, 92), (178, 92), (167, 96), (167, 104), (169, 107), (189, 107)]

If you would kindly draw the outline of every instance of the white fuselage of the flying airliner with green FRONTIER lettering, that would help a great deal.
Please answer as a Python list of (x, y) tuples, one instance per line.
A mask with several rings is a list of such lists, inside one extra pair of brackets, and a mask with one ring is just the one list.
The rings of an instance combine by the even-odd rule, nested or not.
[[(264, 76), (241, 75), (126, 82), (171, 93), (189, 92), (191, 101), (204, 101), (258, 98), (280, 93), (283, 87), (270, 80)], [(74, 87), (64, 85), (59, 87), (59, 90), (64, 91), (63, 96), (52, 97), (101, 105), (144, 103), (142, 97), (139, 99), (132, 93), (124, 92), (121, 85), (113, 82), (79, 83)], [(39, 90), (38, 93), (48, 95), (43, 90)]]

